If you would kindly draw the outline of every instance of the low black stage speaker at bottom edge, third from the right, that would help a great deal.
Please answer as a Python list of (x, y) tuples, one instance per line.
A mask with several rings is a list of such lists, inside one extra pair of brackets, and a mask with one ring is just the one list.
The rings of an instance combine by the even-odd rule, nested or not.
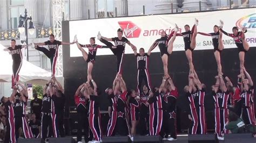
[(135, 135), (133, 142), (161, 142), (160, 135)]

